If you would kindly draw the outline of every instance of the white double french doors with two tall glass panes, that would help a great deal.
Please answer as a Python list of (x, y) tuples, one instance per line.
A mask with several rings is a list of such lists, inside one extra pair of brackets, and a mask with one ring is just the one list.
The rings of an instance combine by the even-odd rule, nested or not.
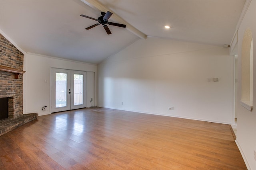
[(52, 112), (86, 107), (86, 72), (52, 68)]

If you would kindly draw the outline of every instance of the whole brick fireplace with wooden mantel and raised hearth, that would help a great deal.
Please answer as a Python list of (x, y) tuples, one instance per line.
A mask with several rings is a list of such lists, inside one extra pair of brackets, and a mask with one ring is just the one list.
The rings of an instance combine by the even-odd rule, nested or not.
[[(0, 34), (0, 115), (4, 115), (0, 117), (0, 136), (38, 116), (23, 114), (23, 58), (24, 54)], [(7, 117), (2, 114), (6, 112)]]

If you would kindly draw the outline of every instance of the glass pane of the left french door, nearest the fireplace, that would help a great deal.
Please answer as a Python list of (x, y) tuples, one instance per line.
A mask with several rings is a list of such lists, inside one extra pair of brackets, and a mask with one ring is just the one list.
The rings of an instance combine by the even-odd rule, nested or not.
[(56, 72), (55, 107), (67, 106), (67, 74)]

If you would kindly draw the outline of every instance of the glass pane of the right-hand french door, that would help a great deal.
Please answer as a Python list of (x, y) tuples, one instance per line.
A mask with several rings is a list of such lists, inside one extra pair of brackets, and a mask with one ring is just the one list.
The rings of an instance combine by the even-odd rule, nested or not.
[(74, 105), (83, 104), (83, 75), (74, 74)]

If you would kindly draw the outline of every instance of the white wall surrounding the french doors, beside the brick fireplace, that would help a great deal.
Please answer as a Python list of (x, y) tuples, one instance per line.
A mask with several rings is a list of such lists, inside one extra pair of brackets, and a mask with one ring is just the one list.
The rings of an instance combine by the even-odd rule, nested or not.
[[(51, 113), (51, 67), (70, 70), (91, 71), (95, 72), (95, 75), (97, 75), (97, 66), (95, 64), (87, 64), (57, 59), (54, 57), (25, 53), (23, 68), (24, 71), (26, 71), (24, 73), (23, 80), (24, 113), (38, 113), (39, 115)], [(45, 80), (47, 81), (46, 83)], [(94, 84), (96, 84), (96, 82)], [(94, 98), (94, 100), (95, 102), (97, 101), (96, 98)], [(43, 106), (47, 106), (46, 111), (42, 111)]]

